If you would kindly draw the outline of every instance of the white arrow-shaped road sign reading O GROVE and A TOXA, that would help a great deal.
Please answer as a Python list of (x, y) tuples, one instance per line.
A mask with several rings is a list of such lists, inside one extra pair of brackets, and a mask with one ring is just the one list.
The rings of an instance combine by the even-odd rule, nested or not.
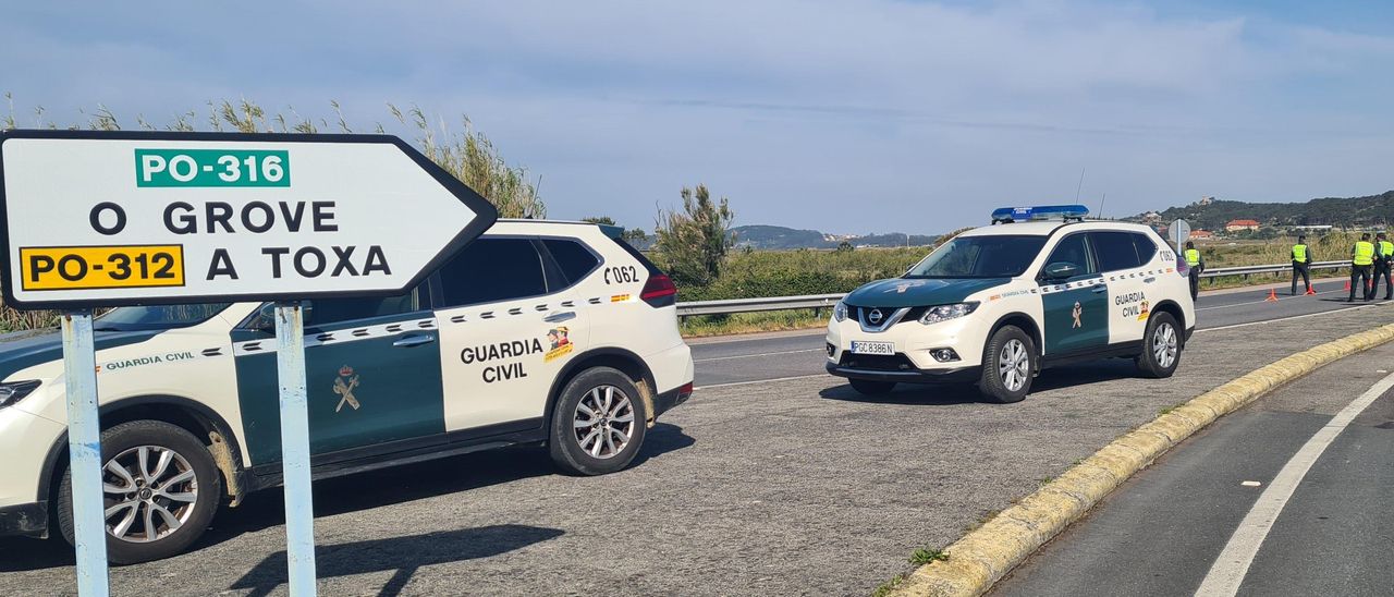
[(399, 294), (498, 218), (389, 135), (0, 134), (4, 298)]

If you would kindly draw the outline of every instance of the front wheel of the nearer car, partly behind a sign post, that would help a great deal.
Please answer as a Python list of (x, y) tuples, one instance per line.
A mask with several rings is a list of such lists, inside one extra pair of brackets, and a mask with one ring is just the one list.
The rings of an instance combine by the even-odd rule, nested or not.
[[(169, 423), (130, 421), (103, 431), (102, 464), (103, 488), (131, 488), (125, 494), (103, 491), (103, 508), (109, 512), (128, 505), (105, 519), (106, 557), (112, 564), (149, 562), (183, 552), (208, 530), (223, 495), (222, 474), (208, 446)], [(171, 483), (177, 487), (166, 492)], [(68, 470), (63, 471), (57, 502), (59, 530), (72, 544)], [(153, 522), (153, 537), (148, 522)], [(120, 536), (118, 529), (124, 529)]]

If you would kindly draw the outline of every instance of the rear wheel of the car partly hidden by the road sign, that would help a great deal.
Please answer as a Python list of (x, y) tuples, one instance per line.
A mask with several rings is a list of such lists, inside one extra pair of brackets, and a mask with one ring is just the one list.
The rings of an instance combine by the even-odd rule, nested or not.
[(588, 368), (556, 399), (548, 453), (570, 474), (615, 473), (644, 445), (647, 421), (644, 399), (629, 375), (609, 367)]

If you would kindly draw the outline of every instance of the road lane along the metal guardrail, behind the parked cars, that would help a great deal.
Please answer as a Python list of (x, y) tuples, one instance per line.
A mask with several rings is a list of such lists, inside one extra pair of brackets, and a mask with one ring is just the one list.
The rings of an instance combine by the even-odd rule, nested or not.
[[(1315, 315), (1361, 307), (1347, 303), (1344, 282), (1313, 285), (1316, 296), (1288, 296), (1288, 285), (1278, 289), (1278, 300), (1267, 301), (1269, 287), (1217, 290), (1202, 293), (1196, 301), (1197, 329), (1218, 329), (1263, 321)], [(696, 384), (714, 386), (799, 375), (822, 375), (822, 331), (769, 333), (753, 338), (723, 338), (691, 342), (697, 364)]]

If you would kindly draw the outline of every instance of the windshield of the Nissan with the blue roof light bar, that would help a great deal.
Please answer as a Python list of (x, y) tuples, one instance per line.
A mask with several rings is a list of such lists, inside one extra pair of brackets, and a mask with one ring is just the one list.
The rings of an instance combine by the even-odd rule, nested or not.
[(949, 240), (905, 278), (1015, 278), (1046, 244), (1044, 236), (969, 236)]

